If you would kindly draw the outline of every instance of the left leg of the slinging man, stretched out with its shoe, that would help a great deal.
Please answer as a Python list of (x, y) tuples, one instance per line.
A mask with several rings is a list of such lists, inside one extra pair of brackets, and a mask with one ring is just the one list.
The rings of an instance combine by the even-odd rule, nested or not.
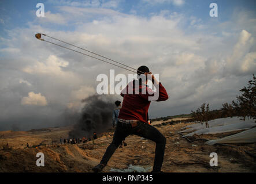
[(109, 162), (109, 159), (114, 154), (114, 151), (118, 148), (118, 146), (122, 143), (122, 141), (127, 137), (127, 132), (125, 132), (125, 129), (122, 128), (121, 122), (118, 122), (116, 131), (114, 132), (112, 143), (107, 147), (107, 150), (105, 154), (102, 157), (101, 163), (99, 165), (94, 167), (94, 171), (99, 172), (102, 170), (103, 167), (106, 166), (107, 162)]

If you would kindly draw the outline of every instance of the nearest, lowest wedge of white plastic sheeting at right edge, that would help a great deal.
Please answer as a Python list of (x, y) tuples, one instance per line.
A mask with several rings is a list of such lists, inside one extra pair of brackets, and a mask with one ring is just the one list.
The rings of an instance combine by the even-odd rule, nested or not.
[(256, 142), (256, 127), (248, 129), (247, 131), (243, 131), (240, 133), (236, 133), (231, 136), (224, 137), (222, 139), (209, 140), (205, 144), (213, 145), (216, 143), (254, 143)]

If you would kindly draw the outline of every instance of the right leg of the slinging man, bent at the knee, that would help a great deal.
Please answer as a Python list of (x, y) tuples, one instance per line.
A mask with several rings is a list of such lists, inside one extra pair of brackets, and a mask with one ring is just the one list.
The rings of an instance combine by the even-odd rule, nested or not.
[(149, 124), (142, 124), (138, 128), (135, 127), (133, 134), (152, 140), (156, 143), (153, 172), (161, 171), (162, 162), (164, 161), (166, 138), (158, 131), (158, 129)]

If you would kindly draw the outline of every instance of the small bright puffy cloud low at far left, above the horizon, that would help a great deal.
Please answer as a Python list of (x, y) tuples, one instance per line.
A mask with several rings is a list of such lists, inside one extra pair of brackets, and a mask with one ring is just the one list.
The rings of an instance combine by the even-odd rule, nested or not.
[(46, 106), (47, 104), (46, 98), (41, 93), (36, 94), (33, 91), (28, 93), (28, 97), (21, 99), (21, 105)]

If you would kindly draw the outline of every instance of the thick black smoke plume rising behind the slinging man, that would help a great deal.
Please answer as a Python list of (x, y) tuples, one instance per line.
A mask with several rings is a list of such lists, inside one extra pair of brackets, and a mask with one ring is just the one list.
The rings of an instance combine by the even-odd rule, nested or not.
[(114, 98), (109, 95), (92, 95), (83, 99), (83, 109), (77, 113), (77, 123), (69, 137), (91, 137), (93, 132), (102, 133), (112, 127)]

